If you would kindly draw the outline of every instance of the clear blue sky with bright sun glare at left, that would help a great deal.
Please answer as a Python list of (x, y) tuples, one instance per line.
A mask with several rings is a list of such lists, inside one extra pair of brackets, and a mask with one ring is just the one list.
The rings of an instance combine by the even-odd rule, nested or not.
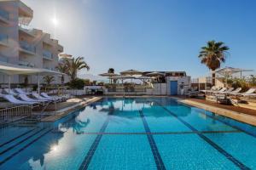
[[(256, 70), (253, 0), (23, 0), (32, 26), (55, 34), (67, 54), (84, 56), (97, 75), (116, 71), (208, 69), (197, 58), (208, 40), (230, 47), (225, 65)], [(58, 25), (51, 20), (56, 15)]]

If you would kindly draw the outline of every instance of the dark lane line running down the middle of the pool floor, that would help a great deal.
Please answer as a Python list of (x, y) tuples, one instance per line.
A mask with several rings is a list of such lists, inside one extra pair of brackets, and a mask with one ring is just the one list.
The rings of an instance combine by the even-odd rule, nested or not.
[(143, 111), (139, 111), (139, 113), (140, 113), (140, 116), (143, 120), (143, 125), (144, 125), (144, 128), (145, 128), (147, 137), (148, 137), (148, 142), (149, 142), (152, 154), (154, 156), (155, 165), (156, 165), (158, 170), (166, 170), (165, 163), (164, 163), (164, 161), (162, 160), (162, 158), (160, 156), (159, 150), (157, 148), (157, 145), (155, 144), (153, 135), (150, 132), (150, 129), (148, 127), (148, 122), (146, 121), (146, 119), (144, 117)]

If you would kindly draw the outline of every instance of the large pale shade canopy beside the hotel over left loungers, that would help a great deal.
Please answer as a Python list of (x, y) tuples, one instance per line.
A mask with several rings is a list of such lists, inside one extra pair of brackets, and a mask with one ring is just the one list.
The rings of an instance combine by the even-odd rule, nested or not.
[(64, 73), (61, 73), (59, 71), (51, 71), (48, 69), (39, 69), (39, 68), (32, 68), (32, 67), (26, 67), (26, 66), (20, 66), (20, 65), (12, 65), (9, 63), (3, 63), (0, 62), (0, 72), (6, 75), (65, 75)]

